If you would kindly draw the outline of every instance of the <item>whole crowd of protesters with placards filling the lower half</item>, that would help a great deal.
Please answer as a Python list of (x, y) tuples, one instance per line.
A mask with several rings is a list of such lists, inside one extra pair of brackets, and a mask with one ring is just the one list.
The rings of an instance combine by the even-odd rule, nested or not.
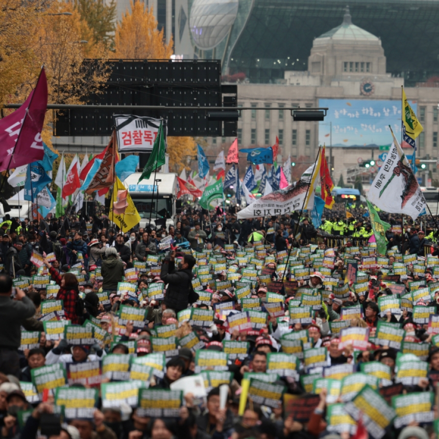
[(363, 206), (317, 227), (187, 206), (126, 233), (102, 215), (6, 216), (0, 438), (437, 437), (434, 219), (380, 216), (386, 254)]

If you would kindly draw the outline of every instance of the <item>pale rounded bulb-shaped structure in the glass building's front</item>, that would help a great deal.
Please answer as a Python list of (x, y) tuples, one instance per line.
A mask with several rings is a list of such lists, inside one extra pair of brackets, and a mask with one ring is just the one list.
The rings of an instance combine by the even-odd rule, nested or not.
[(238, 6), (239, 0), (194, 0), (189, 28), (199, 49), (219, 45), (235, 22)]

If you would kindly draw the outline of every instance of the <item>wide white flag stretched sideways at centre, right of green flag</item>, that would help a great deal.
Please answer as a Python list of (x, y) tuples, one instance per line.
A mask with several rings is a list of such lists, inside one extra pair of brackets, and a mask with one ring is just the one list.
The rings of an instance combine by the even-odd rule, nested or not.
[(255, 200), (249, 206), (238, 212), (238, 219), (284, 215), (295, 210), (301, 210), (307, 202), (308, 209), (313, 209), (314, 193), (312, 205), (311, 200), (306, 199), (309, 197), (305, 198), (305, 196), (307, 192), (310, 192), (310, 186), (313, 183), (313, 178), (315, 178), (313, 173), (314, 168), (314, 165), (310, 166), (298, 181), (287, 188), (279, 189), (278, 191), (274, 191), (271, 194), (264, 195)]

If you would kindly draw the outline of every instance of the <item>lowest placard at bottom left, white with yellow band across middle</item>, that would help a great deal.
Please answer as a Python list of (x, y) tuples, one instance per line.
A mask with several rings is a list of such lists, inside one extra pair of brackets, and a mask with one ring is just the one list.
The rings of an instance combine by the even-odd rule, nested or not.
[(93, 419), (98, 403), (98, 389), (58, 388), (55, 405), (64, 406), (67, 419)]

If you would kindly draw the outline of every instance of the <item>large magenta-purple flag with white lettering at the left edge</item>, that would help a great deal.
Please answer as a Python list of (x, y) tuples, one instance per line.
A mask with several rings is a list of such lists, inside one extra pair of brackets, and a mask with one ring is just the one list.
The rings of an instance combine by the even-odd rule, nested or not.
[(41, 69), (37, 85), (24, 104), (0, 121), (0, 171), (44, 157), (41, 131), (47, 110), (47, 79)]

